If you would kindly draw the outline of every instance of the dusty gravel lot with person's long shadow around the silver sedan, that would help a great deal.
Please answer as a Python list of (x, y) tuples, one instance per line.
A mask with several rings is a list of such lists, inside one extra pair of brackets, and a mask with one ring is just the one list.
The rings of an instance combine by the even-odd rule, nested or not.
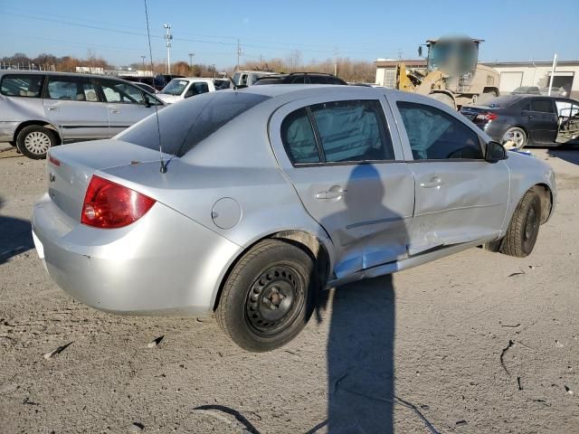
[(0, 145), (0, 431), (579, 432), (579, 149), (534, 152), (558, 204), (530, 257), (472, 249), (338, 288), (249, 354), (213, 318), (65, 295), (30, 236), (44, 162)]

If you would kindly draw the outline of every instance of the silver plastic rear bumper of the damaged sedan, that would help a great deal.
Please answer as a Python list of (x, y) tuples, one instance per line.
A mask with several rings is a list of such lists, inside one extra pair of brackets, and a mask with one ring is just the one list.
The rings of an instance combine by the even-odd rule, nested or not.
[(162, 203), (126, 228), (74, 222), (45, 194), (33, 240), (51, 278), (90, 307), (126, 315), (210, 313), (241, 249)]

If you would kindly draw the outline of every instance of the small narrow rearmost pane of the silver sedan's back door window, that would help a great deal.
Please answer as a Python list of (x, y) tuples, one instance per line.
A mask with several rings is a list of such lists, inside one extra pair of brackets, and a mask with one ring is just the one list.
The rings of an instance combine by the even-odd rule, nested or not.
[(283, 119), (281, 140), (293, 163), (319, 163), (318, 145), (307, 109), (296, 110)]

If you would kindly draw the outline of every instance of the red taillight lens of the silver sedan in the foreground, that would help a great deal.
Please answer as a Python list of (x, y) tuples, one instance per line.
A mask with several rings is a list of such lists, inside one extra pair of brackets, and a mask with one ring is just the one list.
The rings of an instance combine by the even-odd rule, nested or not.
[(84, 196), (81, 222), (95, 228), (122, 228), (138, 221), (153, 204), (155, 200), (145, 194), (94, 175)]

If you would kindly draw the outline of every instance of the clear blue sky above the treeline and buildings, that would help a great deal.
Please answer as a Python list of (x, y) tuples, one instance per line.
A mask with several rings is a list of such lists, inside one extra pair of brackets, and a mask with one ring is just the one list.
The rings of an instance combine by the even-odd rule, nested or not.
[[(302, 1), (193, 2), (147, 0), (153, 58), (166, 59), (161, 39), (172, 25), (172, 61), (215, 63), (285, 58), (303, 61), (338, 56), (416, 58), (424, 40), (448, 34), (485, 39), (482, 61), (579, 59), (577, 0), (478, 2)], [(48, 6), (50, 5), (50, 6)], [(573, 25), (573, 27), (572, 27)], [(0, 0), (0, 57), (24, 52), (86, 57), (88, 50), (117, 65), (148, 55), (143, 0)]]

